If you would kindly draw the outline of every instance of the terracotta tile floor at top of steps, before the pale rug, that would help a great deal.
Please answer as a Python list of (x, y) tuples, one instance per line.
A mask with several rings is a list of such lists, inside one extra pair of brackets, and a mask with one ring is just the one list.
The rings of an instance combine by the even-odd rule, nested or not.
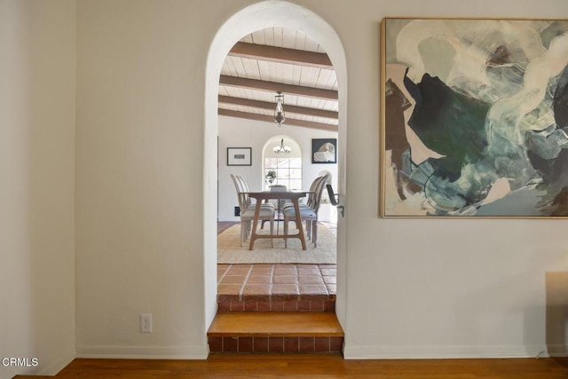
[(335, 296), (336, 265), (217, 265), (219, 296)]

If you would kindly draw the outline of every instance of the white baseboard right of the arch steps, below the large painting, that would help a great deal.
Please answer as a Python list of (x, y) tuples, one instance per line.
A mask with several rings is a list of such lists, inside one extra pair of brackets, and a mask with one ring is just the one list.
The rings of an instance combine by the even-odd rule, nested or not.
[(345, 343), (345, 359), (544, 358), (546, 345), (531, 346), (360, 346)]

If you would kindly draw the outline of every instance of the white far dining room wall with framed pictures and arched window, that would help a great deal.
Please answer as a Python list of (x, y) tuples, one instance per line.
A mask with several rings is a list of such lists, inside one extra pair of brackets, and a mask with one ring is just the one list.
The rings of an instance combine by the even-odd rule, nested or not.
[[(284, 124), (278, 128), (269, 122), (249, 121), (233, 117), (219, 117), (218, 156), (218, 218), (219, 221), (238, 221), (233, 216), (239, 205), (236, 190), (230, 175), (241, 175), (252, 190), (261, 191), (263, 178), (263, 149), (274, 136), (293, 138), (302, 151), (303, 188), (308, 189), (312, 180), (322, 170), (331, 173), (334, 188), (337, 188), (337, 164), (312, 163), (312, 138), (337, 138), (337, 132), (313, 130)], [(285, 139), (286, 142), (286, 139)], [(280, 139), (278, 141), (280, 144)], [(271, 146), (274, 146), (272, 144)], [(252, 166), (227, 166), (227, 147), (252, 147)], [(324, 220), (327, 221), (327, 220)]]

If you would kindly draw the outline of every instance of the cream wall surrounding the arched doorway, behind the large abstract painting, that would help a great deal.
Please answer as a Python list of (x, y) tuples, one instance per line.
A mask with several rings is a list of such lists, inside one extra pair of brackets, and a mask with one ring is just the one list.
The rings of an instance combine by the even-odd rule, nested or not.
[[(215, 206), (206, 215), (202, 210), (217, 178), (217, 154), (202, 145), (217, 143), (217, 127), (204, 128), (206, 109), (216, 107), (205, 104), (206, 85), (217, 84), (206, 83), (206, 62), (217, 30), (255, 3), (77, 3), (80, 356), (206, 355), (215, 230), (204, 225), (217, 216)], [(545, 275), (568, 271), (564, 221), (377, 217), (379, 23), (393, 15), (554, 18), (568, 4), (295, 3), (335, 28), (346, 52), (345, 138), (339, 134), (347, 147), (340, 150), (347, 164), (347, 217), (340, 225), (346, 254), (338, 274), (346, 357), (546, 350)], [(304, 21), (312, 18), (294, 23)], [(138, 334), (140, 312), (154, 313), (153, 334)]]

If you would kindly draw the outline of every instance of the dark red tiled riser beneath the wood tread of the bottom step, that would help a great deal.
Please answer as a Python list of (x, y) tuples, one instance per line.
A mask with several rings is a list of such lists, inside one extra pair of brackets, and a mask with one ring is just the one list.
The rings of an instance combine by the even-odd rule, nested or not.
[(343, 337), (219, 336), (209, 337), (210, 352), (340, 353)]

